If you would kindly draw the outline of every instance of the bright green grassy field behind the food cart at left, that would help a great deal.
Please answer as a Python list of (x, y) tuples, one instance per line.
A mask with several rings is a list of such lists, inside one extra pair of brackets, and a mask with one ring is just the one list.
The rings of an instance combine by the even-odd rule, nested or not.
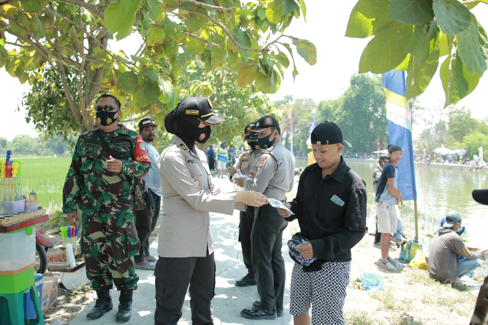
[(61, 210), (62, 188), (71, 157), (12, 157), (20, 161), (20, 183), (25, 195), (34, 189), (39, 206), (48, 214)]

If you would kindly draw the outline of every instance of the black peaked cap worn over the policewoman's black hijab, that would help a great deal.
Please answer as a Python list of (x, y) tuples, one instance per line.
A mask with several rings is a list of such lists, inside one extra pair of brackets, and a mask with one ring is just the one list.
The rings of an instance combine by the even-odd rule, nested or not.
[(223, 118), (214, 115), (210, 101), (206, 97), (187, 97), (176, 106), (174, 116), (180, 118), (195, 117), (210, 125), (224, 122)]

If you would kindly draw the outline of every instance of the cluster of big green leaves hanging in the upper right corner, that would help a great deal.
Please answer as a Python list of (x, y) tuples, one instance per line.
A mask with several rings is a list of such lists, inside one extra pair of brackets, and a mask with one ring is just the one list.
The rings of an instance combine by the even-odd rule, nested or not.
[(488, 68), (487, 35), (471, 7), (458, 0), (359, 0), (346, 36), (374, 36), (363, 51), (359, 72), (407, 70), (407, 96), (417, 96), (447, 55), (440, 68), (445, 106), (459, 102)]

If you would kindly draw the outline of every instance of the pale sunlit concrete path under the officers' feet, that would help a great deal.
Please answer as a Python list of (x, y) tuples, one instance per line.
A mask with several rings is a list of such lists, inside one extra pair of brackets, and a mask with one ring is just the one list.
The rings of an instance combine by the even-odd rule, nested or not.
[[(216, 178), (215, 181), (221, 187), (232, 190), (232, 184), (227, 179)], [(215, 263), (216, 270), (216, 296), (212, 300), (212, 315), (215, 325), (254, 325), (264, 324), (293, 324), (289, 315), (289, 294), (290, 277), (293, 268), (293, 261), (288, 256), (286, 242), (291, 238), (290, 231), (285, 229), (283, 234), (283, 257), (286, 267), (286, 287), (285, 287), (285, 316), (274, 321), (255, 321), (243, 318), (240, 311), (243, 308), (252, 306), (252, 302), (259, 299), (256, 286), (237, 287), (234, 285), (235, 279), (240, 279), (246, 274), (246, 268), (242, 262), (241, 243), (238, 242), (239, 235), (239, 211), (234, 211), (232, 216), (212, 213), (211, 225), (215, 242)], [(191, 240), (182, 238), (182, 240)], [(157, 239), (151, 244), (152, 255), (157, 256)], [(154, 310), (156, 301), (154, 299), (154, 274), (153, 271), (137, 270), (140, 277), (138, 289), (134, 291), (132, 318), (127, 324), (149, 325), (154, 324)], [(95, 301), (87, 303), (80, 313), (69, 323), (70, 325), (111, 325), (119, 324), (115, 321), (117, 305), (119, 302), (119, 292), (111, 290), (114, 309), (106, 313), (99, 320), (88, 321), (86, 314), (95, 305)], [(190, 297), (186, 295), (183, 305), (183, 316), (178, 322), (179, 325), (191, 325)]]

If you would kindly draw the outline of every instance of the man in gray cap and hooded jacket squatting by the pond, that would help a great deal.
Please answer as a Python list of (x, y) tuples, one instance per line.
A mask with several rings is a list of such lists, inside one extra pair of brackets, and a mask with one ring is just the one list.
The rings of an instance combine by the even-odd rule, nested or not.
[[(457, 234), (461, 228), (461, 215), (457, 211), (449, 211), (446, 221), (432, 240), (428, 256), (428, 273), (431, 278), (452, 285), (464, 275), (470, 274), (480, 266), (478, 259), (485, 255), (486, 250), (467, 247)], [(466, 260), (459, 260), (459, 256)]]

